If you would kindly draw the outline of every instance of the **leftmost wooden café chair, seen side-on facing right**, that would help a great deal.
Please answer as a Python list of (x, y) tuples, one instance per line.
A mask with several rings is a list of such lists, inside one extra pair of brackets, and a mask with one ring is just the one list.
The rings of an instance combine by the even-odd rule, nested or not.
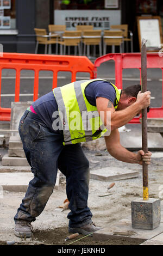
[[(56, 39), (50, 39), (53, 38), (53, 35), (49, 36), (46, 33), (46, 29), (43, 28), (34, 28), (35, 34), (36, 34), (36, 48), (35, 53), (38, 51), (39, 44), (45, 45), (45, 54), (47, 54), (47, 46), (51, 46), (52, 44), (57, 44)], [(48, 53), (51, 54), (51, 47), (48, 47)]]

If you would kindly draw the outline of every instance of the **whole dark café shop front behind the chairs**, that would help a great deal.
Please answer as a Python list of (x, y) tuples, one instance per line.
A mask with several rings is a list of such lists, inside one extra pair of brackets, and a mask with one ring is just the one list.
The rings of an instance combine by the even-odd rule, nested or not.
[[(34, 53), (34, 28), (66, 25), (75, 30), (77, 25), (93, 25), (93, 29), (107, 30), (111, 25), (128, 24), (133, 32), (134, 52), (140, 51), (137, 16), (160, 16), (163, 23), (161, 0), (0, 0), (0, 44), (4, 52)], [(162, 42), (162, 41), (161, 41)], [(44, 48), (39, 48), (43, 53)]]

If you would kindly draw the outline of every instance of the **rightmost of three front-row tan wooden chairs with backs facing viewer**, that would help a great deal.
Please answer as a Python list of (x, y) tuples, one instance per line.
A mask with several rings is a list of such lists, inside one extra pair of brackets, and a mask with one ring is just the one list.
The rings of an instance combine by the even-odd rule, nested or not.
[(112, 53), (115, 52), (115, 46), (120, 46), (122, 52), (123, 32), (122, 31), (104, 31), (103, 36), (103, 54), (106, 54), (107, 45), (112, 46)]

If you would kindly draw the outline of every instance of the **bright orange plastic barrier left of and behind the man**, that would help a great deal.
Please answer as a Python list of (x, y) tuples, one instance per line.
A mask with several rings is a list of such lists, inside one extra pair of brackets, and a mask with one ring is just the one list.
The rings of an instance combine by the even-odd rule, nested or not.
[[(23, 53), (3, 53), (0, 57), (0, 77), (2, 69), (15, 69), (15, 101), (20, 99), (20, 72), (22, 69), (34, 70), (34, 90), (33, 101), (37, 100), (39, 93), (39, 71), (53, 71), (53, 88), (57, 87), (57, 74), (59, 71), (69, 71), (72, 73), (71, 81), (76, 81), (77, 72), (87, 72), (90, 79), (94, 78), (94, 65), (85, 56), (60, 56), (45, 54), (23, 54)], [(1, 79), (0, 79), (0, 120), (10, 121), (11, 108), (1, 107)]]

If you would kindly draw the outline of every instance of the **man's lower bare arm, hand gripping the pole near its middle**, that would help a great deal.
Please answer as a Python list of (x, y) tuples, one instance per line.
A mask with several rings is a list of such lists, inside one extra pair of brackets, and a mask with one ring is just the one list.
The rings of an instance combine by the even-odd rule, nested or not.
[(148, 151), (148, 153), (145, 154), (143, 150), (140, 150), (135, 154), (122, 147), (118, 129), (111, 131), (110, 136), (105, 136), (104, 138), (109, 154), (115, 157), (115, 159), (127, 163), (139, 163), (141, 165), (142, 161), (145, 161), (146, 164), (151, 163), (151, 152)]

